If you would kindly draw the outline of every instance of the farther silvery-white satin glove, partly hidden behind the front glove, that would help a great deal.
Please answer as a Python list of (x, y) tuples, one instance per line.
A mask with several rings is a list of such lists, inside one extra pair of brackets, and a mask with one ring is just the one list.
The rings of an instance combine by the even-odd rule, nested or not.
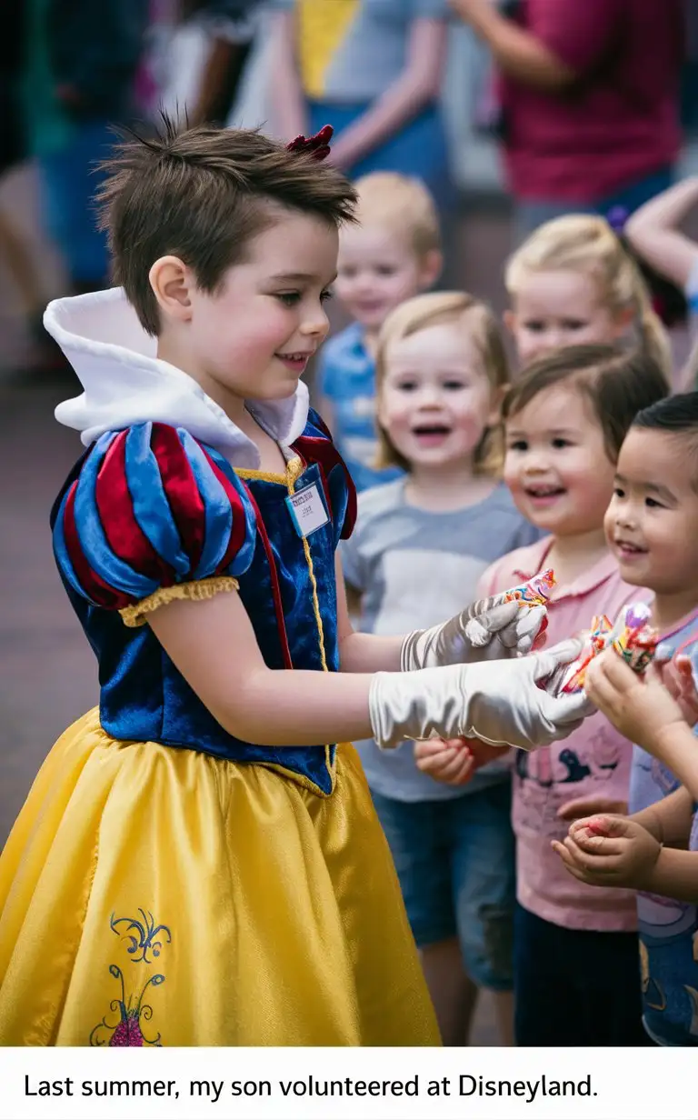
[(447, 623), (412, 631), (400, 652), (402, 672), (530, 653), (546, 622), (546, 608), (503, 603), (502, 598), (480, 599)]

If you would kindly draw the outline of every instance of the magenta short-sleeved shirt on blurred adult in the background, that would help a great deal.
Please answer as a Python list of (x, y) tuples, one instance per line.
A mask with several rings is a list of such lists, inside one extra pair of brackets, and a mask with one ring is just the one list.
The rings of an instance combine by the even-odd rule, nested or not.
[(518, 198), (597, 203), (673, 162), (683, 0), (521, 0), (518, 22), (578, 75), (551, 93), (501, 81)]

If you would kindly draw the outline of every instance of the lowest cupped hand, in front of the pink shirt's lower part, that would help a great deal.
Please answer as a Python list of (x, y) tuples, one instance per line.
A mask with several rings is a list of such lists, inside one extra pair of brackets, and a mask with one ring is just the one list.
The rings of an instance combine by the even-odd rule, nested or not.
[(595, 887), (642, 889), (661, 851), (659, 840), (629, 816), (588, 816), (570, 827), (564, 843), (551, 842), (569, 874)]

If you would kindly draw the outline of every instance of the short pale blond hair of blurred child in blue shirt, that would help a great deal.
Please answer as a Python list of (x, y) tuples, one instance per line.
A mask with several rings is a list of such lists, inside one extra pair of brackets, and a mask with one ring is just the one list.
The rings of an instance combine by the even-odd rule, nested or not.
[(421, 179), (398, 171), (372, 171), (357, 179), (355, 187), (360, 225), (379, 225), (407, 235), (418, 256), (440, 250), (436, 203)]

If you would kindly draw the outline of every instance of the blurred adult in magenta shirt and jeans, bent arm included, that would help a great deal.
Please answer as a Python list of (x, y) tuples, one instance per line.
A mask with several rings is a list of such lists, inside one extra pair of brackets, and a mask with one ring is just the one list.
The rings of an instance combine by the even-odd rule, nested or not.
[(685, 0), (450, 0), (499, 68), (519, 237), (570, 211), (634, 211), (680, 148)]

